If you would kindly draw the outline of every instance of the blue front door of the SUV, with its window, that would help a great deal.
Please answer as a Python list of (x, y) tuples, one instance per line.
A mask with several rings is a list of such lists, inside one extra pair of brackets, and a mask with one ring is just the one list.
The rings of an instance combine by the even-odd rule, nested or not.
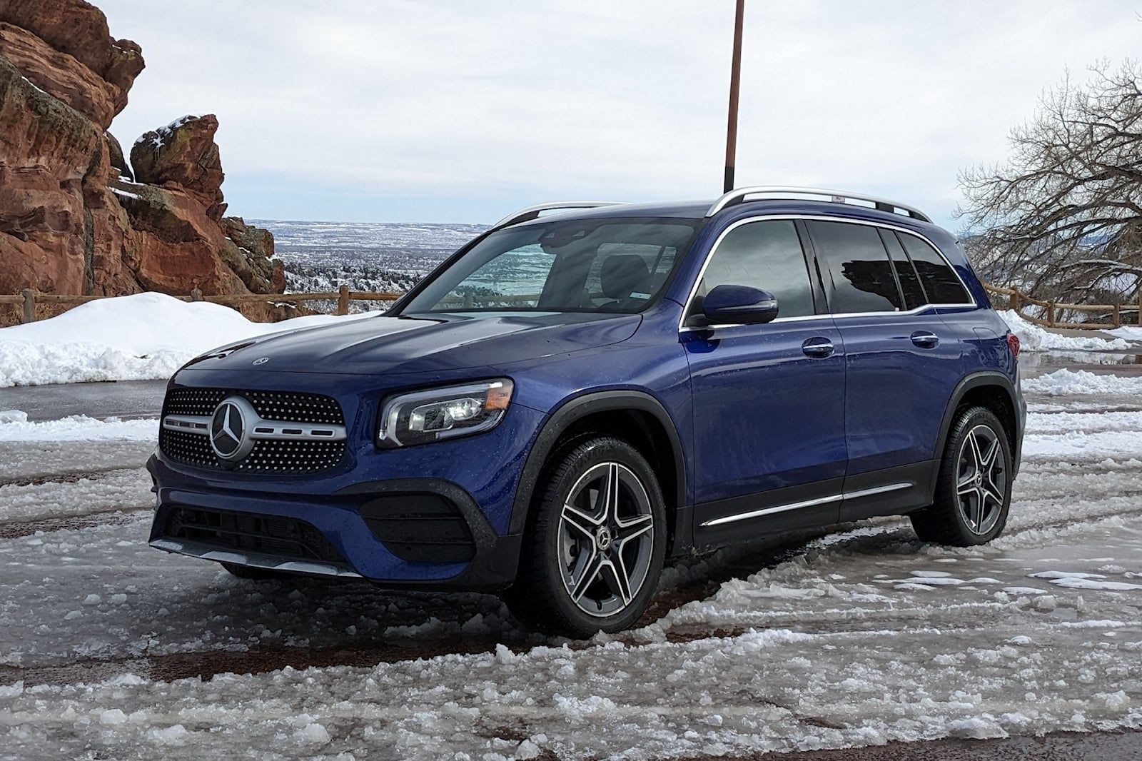
[(693, 390), (695, 539), (834, 523), (846, 460), (845, 349), (820, 313), (796, 223), (746, 221), (724, 232), (691, 314), (721, 285), (770, 291), (778, 317), (682, 331)]

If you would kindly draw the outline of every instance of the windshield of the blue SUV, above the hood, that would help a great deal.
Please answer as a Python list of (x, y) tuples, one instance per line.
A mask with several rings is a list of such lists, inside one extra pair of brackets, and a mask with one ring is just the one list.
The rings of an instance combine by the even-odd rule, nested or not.
[(501, 230), (436, 272), (402, 312), (638, 312), (699, 224), (612, 217)]

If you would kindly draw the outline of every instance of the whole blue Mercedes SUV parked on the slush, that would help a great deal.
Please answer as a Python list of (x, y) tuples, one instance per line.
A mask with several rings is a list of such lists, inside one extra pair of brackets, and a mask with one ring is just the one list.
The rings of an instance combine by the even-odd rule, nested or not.
[(548, 631), (618, 631), (699, 550), (874, 515), (996, 537), (1018, 355), (952, 237), (902, 203), (534, 207), (384, 317), (180, 369), (151, 544), (242, 577), (502, 591)]

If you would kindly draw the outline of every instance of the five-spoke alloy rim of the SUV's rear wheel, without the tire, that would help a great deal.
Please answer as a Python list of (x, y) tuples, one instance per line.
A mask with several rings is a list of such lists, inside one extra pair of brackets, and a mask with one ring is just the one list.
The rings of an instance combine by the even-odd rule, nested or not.
[(982, 536), (995, 528), (1007, 494), (1007, 458), (999, 434), (976, 425), (964, 438), (956, 467), (956, 502), (968, 530)]

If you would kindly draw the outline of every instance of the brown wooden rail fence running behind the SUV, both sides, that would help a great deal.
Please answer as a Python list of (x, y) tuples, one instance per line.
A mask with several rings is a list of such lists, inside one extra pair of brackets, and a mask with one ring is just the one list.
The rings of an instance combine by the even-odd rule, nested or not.
[[(1142, 291), (1139, 293), (1137, 305), (1124, 306), (1123, 304), (1063, 304), (1059, 302), (1044, 302), (1028, 296), (1019, 288), (1002, 288), (990, 283), (983, 283), (983, 288), (1003, 299), (994, 299), (996, 306), (1006, 307), (1016, 312), (1028, 322), (1045, 326), (1048, 328), (1073, 328), (1079, 330), (1100, 330), (1105, 328), (1123, 327), (1124, 313), (1136, 313), (1142, 322)], [(316, 294), (238, 294), (230, 296), (203, 296), (202, 291), (194, 289), (190, 296), (176, 296), (184, 302), (210, 302), (214, 304), (303, 304), (305, 302), (337, 302), (333, 314), (348, 314), (349, 302), (395, 302), (404, 294), (386, 294), (368, 290), (349, 290), (348, 286), (341, 286), (338, 290)], [(25, 288), (19, 294), (0, 295), (0, 304), (22, 305), (24, 309), (23, 321), (33, 322), (35, 320), (37, 304), (86, 304), (105, 296), (64, 296), (59, 294), (41, 294), (32, 288)], [(467, 297), (467, 298), (471, 298)], [(534, 301), (536, 295), (497, 297), (497, 301)], [(465, 303), (467, 299), (464, 299)], [(457, 298), (457, 304), (461, 299)], [(1027, 305), (1043, 307), (1045, 318), (1024, 314), (1021, 309)], [(1096, 312), (1109, 318), (1109, 321), (1089, 322), (1064, 322), (1055, 318), (1062, 312)]]

